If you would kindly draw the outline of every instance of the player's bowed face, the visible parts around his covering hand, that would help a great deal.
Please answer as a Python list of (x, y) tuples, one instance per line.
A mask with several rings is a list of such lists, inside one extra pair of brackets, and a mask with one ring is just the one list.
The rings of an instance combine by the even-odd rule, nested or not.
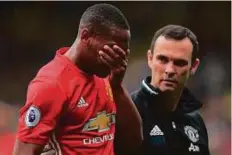
[(118, 45), (122, 49), (127, 50), (129, 48), (130, 41), (130, 31), (127, 30), (119, 30), (119, 29), (111, 29), (110, 33), (107, 34), (99, 34), (92, 39), (92, 52), (95, 58), (94, 72), (99, 77), (106, 77), (110, 74), (110, 68), (100, 60), (99, 51), (103, 49), (104, 45), (109, 45), (112, 47), (113, 45)]

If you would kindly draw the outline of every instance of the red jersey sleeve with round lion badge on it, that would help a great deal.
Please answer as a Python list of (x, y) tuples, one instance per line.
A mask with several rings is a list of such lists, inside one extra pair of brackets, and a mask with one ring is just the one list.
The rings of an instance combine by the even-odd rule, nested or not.
[(19, 112), (17, 138), (22, 142), (46, 144), (66, 108), (65, 102), (65, 93), (55, 82), (32, 82)]

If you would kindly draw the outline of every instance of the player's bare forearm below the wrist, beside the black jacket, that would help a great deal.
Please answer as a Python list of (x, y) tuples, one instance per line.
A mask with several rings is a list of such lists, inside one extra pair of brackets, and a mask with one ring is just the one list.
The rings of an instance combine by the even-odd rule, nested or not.
[(116, 144), (124, 150), (138, 150), (143, 140), (141, 117), (123, 86), (112, 89), (117, 106)]

